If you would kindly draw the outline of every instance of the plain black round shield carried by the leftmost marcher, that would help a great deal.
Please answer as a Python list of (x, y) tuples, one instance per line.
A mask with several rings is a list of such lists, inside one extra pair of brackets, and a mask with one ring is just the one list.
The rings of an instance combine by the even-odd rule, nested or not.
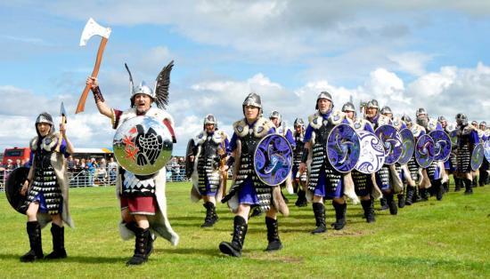
[(12, 208), (22, 214), (26, 214), (26, 195), (20, 195), (20, 189), (24, 186), (24, 181), (28, 178), (29, 168), (20, 167), (13, 170), (5, 182), (5, 194)]

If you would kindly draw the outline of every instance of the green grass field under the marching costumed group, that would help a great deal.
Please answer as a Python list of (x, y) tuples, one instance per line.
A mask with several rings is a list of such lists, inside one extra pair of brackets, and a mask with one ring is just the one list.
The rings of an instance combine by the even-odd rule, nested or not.
[[(189, 200), (190, 183), (167, 185), (168, 217), (181, 241), (173, 247), (159, 238), (148, 263), (126, 267), (134, 242), (118, 236), (118, 201), (113, 187), (72, 188), (70, 209), (75, 229), (66, 229), (68, 259), (20, 263), (29, 250), (26, 218), (0, 195), (0, 276), (5, 277), (490, 277), (490, 187), (474, 195), (449, 193), (441, 202), (415, 203), (390, 216), (377, 211), (365, 223), (360, 205), (347, 207), (347, 227), (310, 235), (311, 204), (294, 206), (279, 219), (282, 251), (266, 253), (264, 217), (251, 219), (243, 257), (220, 254), (218, 244), (230, 241), (233, 214), (217, 208), (215, 227), (202, 229), (200, 203)], [(377, 203), (379, 207), (379, 203)], [(334, 220), (327, 203), (327, 222)], [(52, 250), (49, 227), (43, 230), (45, 254)]]

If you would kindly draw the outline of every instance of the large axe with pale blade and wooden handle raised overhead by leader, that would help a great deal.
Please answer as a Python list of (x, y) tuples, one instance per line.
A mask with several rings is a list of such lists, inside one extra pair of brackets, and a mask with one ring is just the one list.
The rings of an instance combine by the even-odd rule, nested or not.
[[(90, 18), (88, 21), (86, 21), (86, 26), (82, 32), (82, 36), (80, 37), (80, 46), (85, 46), (86, 42), (94, 35), (102, 36), (99, 51), (97, 52), (97, 60), (95, 60), (94, 71), (92, 72), (92, 76), (97, 77), (97, 75), (99, 75), (99, 68), (101, 67), (102, 53), (105, 49), (105, 44), (107, 44), (107, 39), (109, 39), (110, 36), (110, 28), (104, 28), (95, 22), (94, 19)], [(86, 96), (88, 95), (89, 90), (90, 87), (86, 85), (82, 96), (80, 96), (80, 100), (78, 100), (77, 111), (75, 112), (76, 114), (84, 111)]]

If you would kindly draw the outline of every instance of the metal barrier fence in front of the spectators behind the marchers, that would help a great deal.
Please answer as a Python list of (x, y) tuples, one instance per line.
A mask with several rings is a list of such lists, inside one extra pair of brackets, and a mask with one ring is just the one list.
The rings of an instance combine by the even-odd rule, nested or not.
[[(0, 171), (0, 191), (4, 191), (5, 181), (10, 174), (10, 170)], [(88, 170), (69, 170), (69, 187), (105, 187), (116, 184), (117, 172), (113, 169)], [(167, 170), (167, 181), (180, 182), (188, 181), (185, 177), (185, 168)]]

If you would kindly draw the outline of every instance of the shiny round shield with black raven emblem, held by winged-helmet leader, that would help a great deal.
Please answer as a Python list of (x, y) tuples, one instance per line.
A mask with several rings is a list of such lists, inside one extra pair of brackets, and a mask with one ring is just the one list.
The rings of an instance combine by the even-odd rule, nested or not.
[(150, 116), (135, 116), (121, 124), (112, 142), (114, 156), (137, 175), (158, 172), (172, 156), (172, 135), (167, 126)]

